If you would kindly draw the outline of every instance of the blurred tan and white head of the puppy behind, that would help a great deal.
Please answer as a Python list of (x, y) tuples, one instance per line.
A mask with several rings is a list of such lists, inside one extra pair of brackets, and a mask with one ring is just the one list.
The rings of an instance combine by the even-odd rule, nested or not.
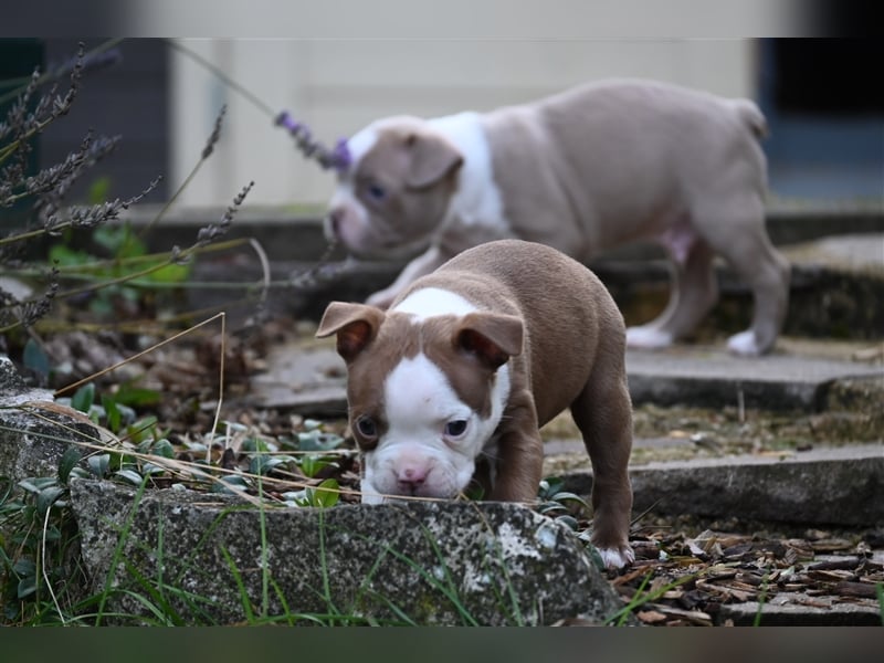
[(424, 120), (378, 120), (347, 141), (326, 238), (360, 257), (413, 253), (439, 227), (463, 164), (457, 149)]

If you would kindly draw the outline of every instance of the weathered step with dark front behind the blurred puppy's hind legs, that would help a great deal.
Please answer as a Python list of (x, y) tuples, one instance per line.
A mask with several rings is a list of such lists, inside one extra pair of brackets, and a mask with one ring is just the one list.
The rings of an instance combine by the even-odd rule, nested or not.
[[(884, 338), (884, 233), (842, 235), (785, 248), (792, 261), (790, 305), (783, 333), (818, 338)], [(332, 263), (316, 275), (313, 262), (270, 263), (267, 305), (284, 315), (318, 320), (328, 302), (364, 301), (391, 283), (402, 264), (392, 262)], [(670, 270), (662, 259), (602, 257), (590, 267), (602, 280), (628, 325), (655, 317), (670, 296)], [(747, 328), (753, 297), (745, 283), (724, 265), (717, 266), (722, 296), (696, 332), (695, 340), (715, 341)], [(250, 250), (241, 254), (200, 260), (190, 286), (194, 308), (242, 297), (243, 285), (262, 280), (261, 265)], [(293, 281), (293, 278), (295, 281)], [(218, 282), (230, 283), (218, 290)], [(238, 286), (236, 284), (242, 284)]]

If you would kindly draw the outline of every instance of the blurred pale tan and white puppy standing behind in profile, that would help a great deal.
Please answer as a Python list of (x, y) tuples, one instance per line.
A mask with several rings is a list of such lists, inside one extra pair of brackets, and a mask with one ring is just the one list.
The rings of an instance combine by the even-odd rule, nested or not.
[(718, 254), (755, 296), (750, 329), (728, 346), (758, 355), (774, 346), (789, 296), (789, 265), (765, 228), (765, 131), (749, 99), (630, 80), (490, 113), (388, 117), (347, 140), (326, 234), (357, 257), (423, 251), (369, 297), (381, 307), (490, 240), (541, 242), (583, 263), (654, 240), (675, 278), (666, 311), (629, 329), (635, 347), (697, 326), (717, 299)]

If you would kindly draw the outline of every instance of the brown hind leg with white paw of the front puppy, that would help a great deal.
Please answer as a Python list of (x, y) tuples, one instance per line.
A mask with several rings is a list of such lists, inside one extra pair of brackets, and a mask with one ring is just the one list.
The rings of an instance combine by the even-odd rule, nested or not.
[(603, 345), (571, 414), (592, 461), (592, 544), (607, 567), (620, 568), (635, 559), (629, 545), (632, 403), (622, 343), (609, 338)]

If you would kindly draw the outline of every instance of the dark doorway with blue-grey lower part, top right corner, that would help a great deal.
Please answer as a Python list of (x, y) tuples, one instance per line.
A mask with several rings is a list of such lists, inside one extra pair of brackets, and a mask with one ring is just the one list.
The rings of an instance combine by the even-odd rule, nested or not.
[(760, 40), (771, 192), (884, 203), (884, 42)]

